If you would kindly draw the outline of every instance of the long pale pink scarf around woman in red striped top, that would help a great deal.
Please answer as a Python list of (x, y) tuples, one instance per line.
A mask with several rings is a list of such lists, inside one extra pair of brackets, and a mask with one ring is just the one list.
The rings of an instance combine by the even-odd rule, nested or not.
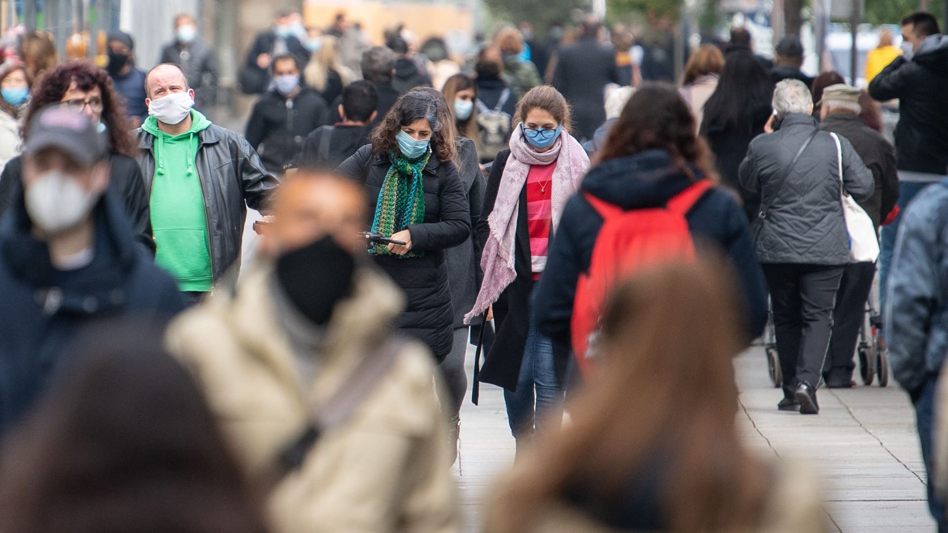
[(520, 192), (526, 185), (531, 165), (549, 165), (556, 162), (553, 171), (553, 232), (559, 228), (559, 219), (567, 200), (579, 190), (579, 184), (590, 169), (590, 158), (573, 136), (565, 131), (556, 139), (556, 144), (547, 152), (535, 152), (520, 127), (514, 128), (510, 138), (510, 157), (501, 175), (501, 186), (497, 191), (494, 210), (487, 216), (490, 234), (483, 247), (481, 268), (483, 283), (474, 308), (465, 315), (465, 323), (482, 315), (491, 304), (501, 297), (503, 289), (517, 279), (514, 268), (517, 244), (517, 212), (520, 208)]

